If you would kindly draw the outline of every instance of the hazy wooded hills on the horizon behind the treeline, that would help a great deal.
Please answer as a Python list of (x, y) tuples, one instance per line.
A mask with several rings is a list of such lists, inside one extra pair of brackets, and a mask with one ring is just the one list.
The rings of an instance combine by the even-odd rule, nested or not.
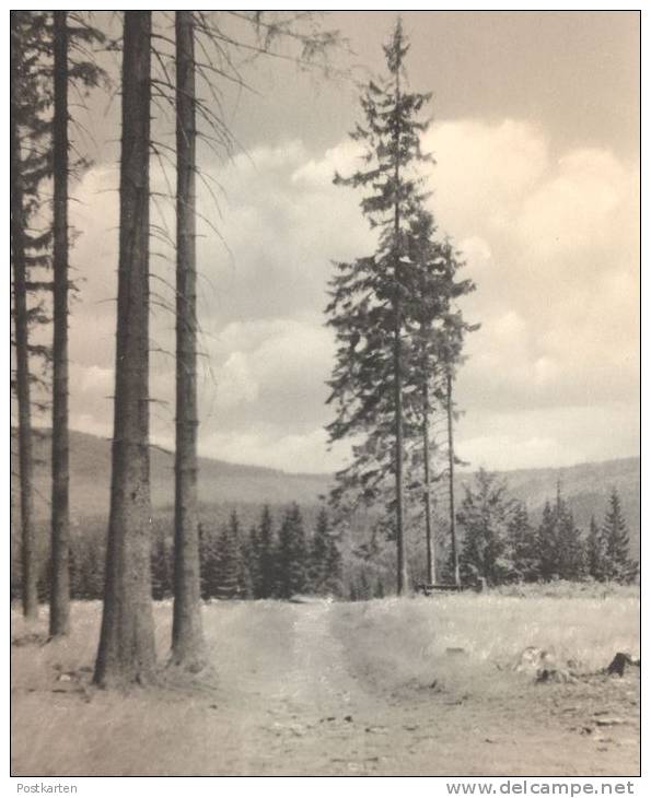
[[(15, 446), (12, 446), (14, 449)], [(36, 442), (35, 469), (36, 515), (49, 512), (49, 435), (39, 434)], [(155, 508), (174, 502), (174, 456), (159, 447), (151, 449), (151, 490)], [(12, 451), (12, 471), (18, 470)], [(81, 432), (70, 434), (70, 505), (73, 517), (104, 515), (108, 511), (111, 442)], [(287, 504), (295, 501), (311, 505), (327, 492), (328, 474), (288, 473), (271, 468), (242, 466), (209, 458), (200, 459), (199, 498), (204, 504)], [(631, 549), (639, 552), (640, 540), (640, 460), (629, 457), (604, 462), (586, 462), (570, 468), (535, 468), (504, 471), (511, 495), (524, 501), (537, 519), (547, 498), (554, 498), (560, 480), (580, 527), (586, 528), (594, 514), (603, 518), (608, 494), (617, 488), (628, 520)], [(472, 473), (460, 473), (457, 495), (470, 484)], [(18, 490), (12, 481), (12, 493)]]

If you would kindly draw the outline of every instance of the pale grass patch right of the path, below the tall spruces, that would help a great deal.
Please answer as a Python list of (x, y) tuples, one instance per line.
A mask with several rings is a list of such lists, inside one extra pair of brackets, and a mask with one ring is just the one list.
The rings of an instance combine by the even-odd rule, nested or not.
[[(374, 681), (399, 684), (455, 683), (490, 674), (496, 688), (512, 682), (512, 666), (527, 646), (551, 652), (578, 670), (604, 668), (616, 652), (639, 653), (639, 592), (602, 589), (571, 598), (543, 590), (505, 596), (442, 595), (345, 605), (336, 619), (347, 639), (351, 667)], [(462, 648), (451, 655), (449, 648)], [(497, 678), (502, 674), (504, 679)]]

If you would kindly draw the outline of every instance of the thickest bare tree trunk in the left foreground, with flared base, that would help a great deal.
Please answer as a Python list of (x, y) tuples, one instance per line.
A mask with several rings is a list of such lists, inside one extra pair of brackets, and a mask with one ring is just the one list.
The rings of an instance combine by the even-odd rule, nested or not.
[(95, 664), (103, 686), (154, 677), (149, 484), (151, 11), (126, 11), (111, 516)]

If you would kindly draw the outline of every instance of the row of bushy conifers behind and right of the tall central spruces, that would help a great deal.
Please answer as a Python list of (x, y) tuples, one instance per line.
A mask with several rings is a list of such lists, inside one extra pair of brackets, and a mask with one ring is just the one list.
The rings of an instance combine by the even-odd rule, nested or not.
[[(480, 469), (464, 488), (456, 512), (460, 528), (458, 564), (462, 584), (488, 587), (551, 582), (631, 584), (639, 564), (630, 555), (629, 530), (619, 494), (612, 489), (603, 518), (592, 517), (586, 529), (574, 521), (560, 484), (532, 520), (526, 504), (509, 495), (507, 480)], [(449, 520), (438, 523), (439, 584), (453, 584), (454, 560)], [(422, 560), (422, 521), (408, 549), (410, 586), (429, 583)], [(386, 568), (377, 567), (383, 547), (375, 536), (356, 549), (357, 567), (349, 570), (347, 595), (369, 599), (391, 591)]]

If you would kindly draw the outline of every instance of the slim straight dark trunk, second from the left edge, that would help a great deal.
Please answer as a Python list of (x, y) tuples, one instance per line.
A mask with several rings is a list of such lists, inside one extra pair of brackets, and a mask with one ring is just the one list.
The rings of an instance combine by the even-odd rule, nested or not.
[(68, 465), (68, 21), (54, 12), (54, 345), (49, 633), (70, 621)]

